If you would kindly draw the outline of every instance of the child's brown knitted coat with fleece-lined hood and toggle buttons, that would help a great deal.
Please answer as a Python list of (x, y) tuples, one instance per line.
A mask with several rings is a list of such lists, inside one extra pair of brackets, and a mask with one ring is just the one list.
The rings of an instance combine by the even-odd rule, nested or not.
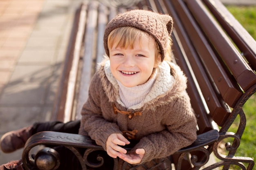
[[(148, 96), (128, 109), (121, 102), (118, 89), (109, 61), (102, 62), (83, 105), (79, 134), (89, 135), (106, 150), (110, 134), (137, 130), (135, 139), (139, 143), (133, 150), (144, 148), (146, 151), (141, 163), (172, 155), (195, 141), (196, 119), (185, 91), (186, 77), (177, 65), (162, 62)], [(113, 103), (118, 110), (141, 115), (130, 119), (129, 115), (115, 114)]]

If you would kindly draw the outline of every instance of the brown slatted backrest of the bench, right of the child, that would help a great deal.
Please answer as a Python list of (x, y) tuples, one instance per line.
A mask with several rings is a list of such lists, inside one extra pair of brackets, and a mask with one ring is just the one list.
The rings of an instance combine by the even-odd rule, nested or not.
[(211, 128), (211, 119), (223, 126), (230, 107), (256, 84), (256, 42), (218, 0), (164, 3), (175, 18), (173, 52), (189, 77), (188, 93), (200, 131)]

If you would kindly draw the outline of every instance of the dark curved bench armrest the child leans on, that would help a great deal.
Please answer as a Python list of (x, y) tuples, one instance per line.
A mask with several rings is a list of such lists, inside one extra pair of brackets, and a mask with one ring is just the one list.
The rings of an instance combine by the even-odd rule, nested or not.
[[(219, 134), (217, 130), (210, 130), (205, 132), (201, 135), (198, 135), (196, 141), (186, 148), (182, 148), (181, 150), (177, 151), (177, 154), (181, 153), (188, 153), (193, 150), (197, 150), (197, 148), (207, 146), (209, 144), (213, 144), (219, 138)], [(77, 152), (79, 148), (88, 148), (89, 152), (95, 150), (103, 150), (103, 148), (95, 143), (89, 136), (83, 136), (78, 134), (70, 134), (70, 133), (63, 133), (63, 132), (38, 132), (35, 135), (31, 136), (27, 143), (25, 144), (24, 151), (22, 153), (22, 161), (25, 165), (27, 170), (31, 169), (35, 165), (41, 165), (42, 160), (38, 162), (36, 159), (38, 156), (32, 157), (29, 153), (32, 148), (38, 145), (46, 145), (46, 146), (65, 146), (72, 150), (72, 152), (78, 157), (80, 163), (88, 165), (88, 162), (81, 162), (84, 161), (83, 155), (79, 155)], [(126, 148), (127, 150), (131, 150), (131, 148)], [(39, 151), (40, 152), (40, 151)], [(40, 152), (40, 156), (44, 157), (43, 163), (46, 163), (47, 166), (52, 165), (57, 166), (59, 164), (58, 153), (55, 153), (54, 150), (44, 150), (45, 153)], [(53, 152), (49, 154), (49, 152)], [(50, 161), (50, 162), (47, 162)], [(101, 164), (101, 163), (99, 163)], [(91, 165), (89, 163), (89, 165)], [(43, 166), (45, 167), (45, 166)], [(38, 167), (39, 168), (39, 167)], [(57, 168), (57, 167), (56, 167)], [(40, 169), (40, 168), (39, 168)], [(53, 168), (54, 169), (54, 168)]]

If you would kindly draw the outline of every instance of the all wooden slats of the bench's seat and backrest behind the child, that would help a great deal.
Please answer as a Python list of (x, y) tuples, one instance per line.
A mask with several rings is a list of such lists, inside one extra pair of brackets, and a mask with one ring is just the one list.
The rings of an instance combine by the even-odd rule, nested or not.
[[(90, 79), (105, 53), (106, 24), (129, 9), (148, 9), (174, 18), (174, 62), (188, 77), (187, 92), (198, 117), (200, 134), (215, 128), (212, 120), (223, 126), (231, 110), (243, 105), (241, 97), (248, 99), (255, 90), (256, 42), (219, 0), (141, 0), (128, 8), (107, 5), (97, 1), (85, 3), (83, 17), (77, 21), (76, 42), (80, 45), (72, 53), (76, 72), (70, 76), (77, 77), (79, 85), (72, 86), (71, 97), (66, 97), (71, 98), (70, 103), (62, 106), (69, 110), (62, 112), (68, 115), (67, 121), (80, 118)], [(81, 59), (83, 64), (79, 65)]]

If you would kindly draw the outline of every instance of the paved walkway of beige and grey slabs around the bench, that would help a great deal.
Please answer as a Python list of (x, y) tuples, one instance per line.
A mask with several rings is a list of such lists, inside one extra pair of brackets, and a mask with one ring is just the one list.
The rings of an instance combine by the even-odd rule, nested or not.
[[(82, 1), (0, 0), (0, 137), (50, 120), (74, 11)], [(21, 153), (0, 151), (0, 164)]]

